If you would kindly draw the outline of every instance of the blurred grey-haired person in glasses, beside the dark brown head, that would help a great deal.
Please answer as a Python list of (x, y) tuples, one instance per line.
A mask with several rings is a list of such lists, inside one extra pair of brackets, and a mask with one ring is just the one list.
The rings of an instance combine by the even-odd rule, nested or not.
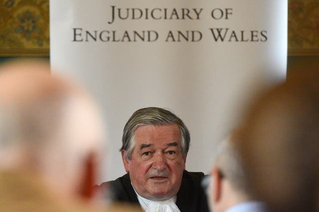
[(210, 209), (213, 212), (266, 212), (266, 205), (251, 192), (238, 153), (242, 136), (240, 129), (223, 140), (217, 148), (209, 185)]

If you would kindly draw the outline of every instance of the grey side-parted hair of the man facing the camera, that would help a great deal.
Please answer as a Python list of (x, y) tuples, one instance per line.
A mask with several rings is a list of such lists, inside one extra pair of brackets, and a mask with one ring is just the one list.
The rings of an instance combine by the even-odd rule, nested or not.
[(181, 136), (182, 156), (184, 157), (189, 149), (190, 135), (183, 121), (172, 112), (160, 107), (145, 107), (133, 113), (125, 124), (122, 137), (122, 150), (126, 150), (126, 158), (131, 160), (132, 151), (135, 146), (134, 134), (142, 125), (167, 125), (175, 123), (178, 125)]

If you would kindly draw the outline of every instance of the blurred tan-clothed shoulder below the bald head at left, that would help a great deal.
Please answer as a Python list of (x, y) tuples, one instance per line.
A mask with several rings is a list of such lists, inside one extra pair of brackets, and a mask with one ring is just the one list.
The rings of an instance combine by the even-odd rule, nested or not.
[(74, 200), (63, 200), (53, 194), (46, 185), (25, 172), (0, 172), (0, 211), (23, 212), (105, 212), (105, 207), (84, 205)]

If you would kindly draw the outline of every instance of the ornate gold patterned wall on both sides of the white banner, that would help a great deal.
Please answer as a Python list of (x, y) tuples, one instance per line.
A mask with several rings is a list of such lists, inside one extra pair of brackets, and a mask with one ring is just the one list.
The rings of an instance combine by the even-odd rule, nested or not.
[[(288, 54), (319, 55), (319, 0), (289, 0)], [(0, 56), (49, 56), (49, 0), (0, 0)]]

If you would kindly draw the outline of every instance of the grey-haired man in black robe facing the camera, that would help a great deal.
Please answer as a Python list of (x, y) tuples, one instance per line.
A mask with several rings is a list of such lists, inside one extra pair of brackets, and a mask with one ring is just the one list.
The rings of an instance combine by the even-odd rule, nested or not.
[(200, 187), (203, 173), (185, 171), (189, 132), (168, 110), (137, 110), (126, 123), (122, 159), (128, 174), (102, 186), (111, 187), (117, 201), (140, 203), (147, 212), (205, 212)]

